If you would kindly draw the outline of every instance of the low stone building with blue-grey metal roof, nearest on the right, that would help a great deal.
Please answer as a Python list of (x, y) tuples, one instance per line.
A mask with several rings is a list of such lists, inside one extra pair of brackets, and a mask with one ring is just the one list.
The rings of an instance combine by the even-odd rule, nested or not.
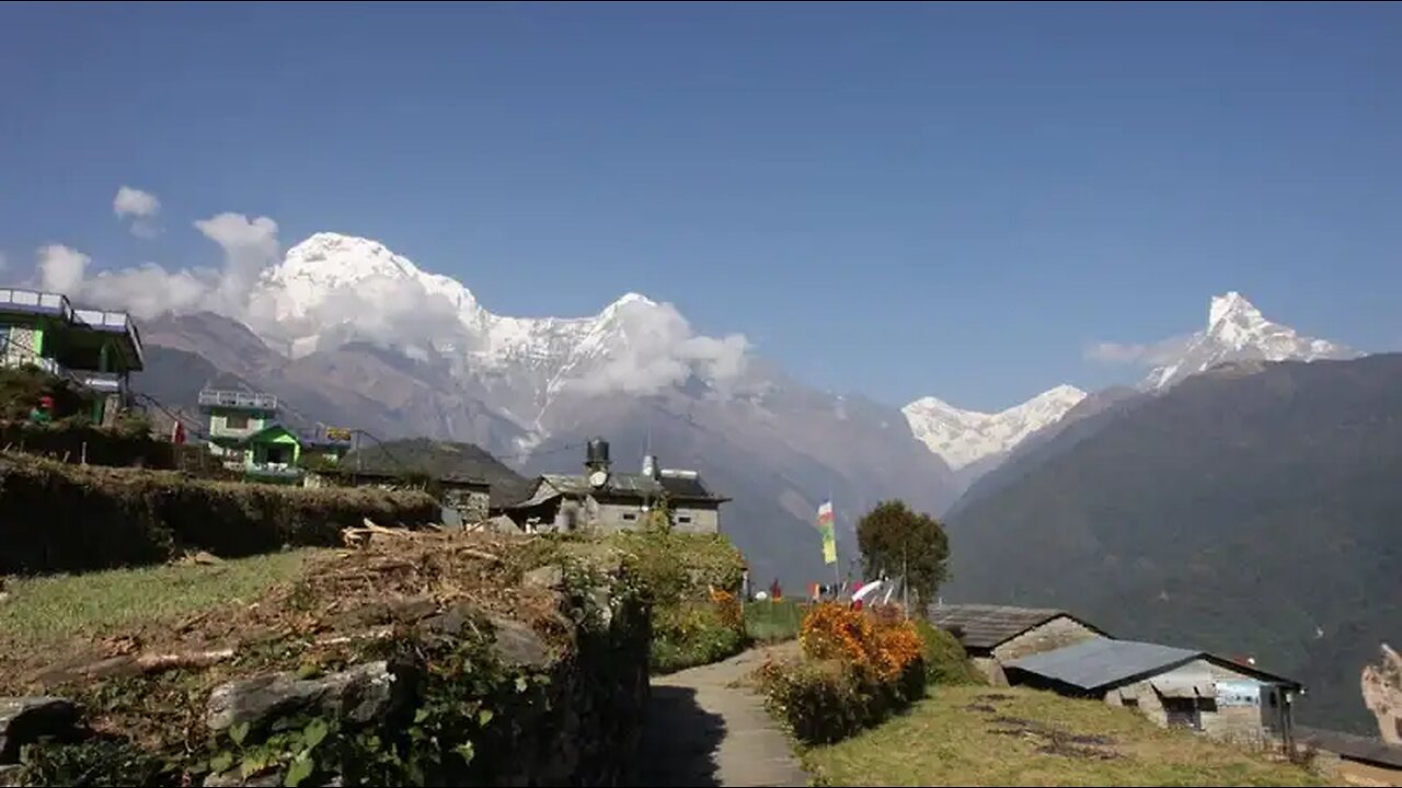
[(1283, 679), (1207, 652), (1092, 638), (1004, 663), (1008, 681), (1136, 708), (1162, 726), (1238, 742), (1288, 742), (1302, 691)]

